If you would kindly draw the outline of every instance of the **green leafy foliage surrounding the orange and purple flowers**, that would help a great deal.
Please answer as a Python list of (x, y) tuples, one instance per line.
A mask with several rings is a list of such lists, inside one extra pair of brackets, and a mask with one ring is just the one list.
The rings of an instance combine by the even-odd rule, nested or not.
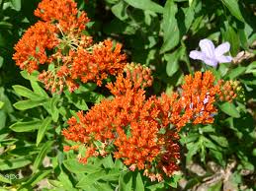
[[(124, 44), (129, 60), (152, 68), (152, 94), (171, 93), (181, 85), (184, 75), (206, 70), (188, 57), (200, 39), (231, 44), (234, 63), (221, 64), (213, 72), (217, 79), (239, 80), (245, 99), (218, 105), (221, 111), (213, 125), (183, 130), (182, 178), (175, 175), (165, 183), (149, 183), (139, 171), (131, 173), (112, 156), (81, 165), (72, 152), (63, 153), (60, 131), (67, 126), (65, 121), (108, 95), (90, 83), (72, 95), (50, 95), (36, 76), (20, 73), (12, 61), (13, 46), (37, 21), (33, 12), (38, 3), (0, 0), (3, 190), (256, 189), (254, 0), (77, 1), (79, 9), (92, 20), (88, 27), (96, 41), (116, 39)], [(19, 178), (6, 178), (6, 174), (19, 174)]]

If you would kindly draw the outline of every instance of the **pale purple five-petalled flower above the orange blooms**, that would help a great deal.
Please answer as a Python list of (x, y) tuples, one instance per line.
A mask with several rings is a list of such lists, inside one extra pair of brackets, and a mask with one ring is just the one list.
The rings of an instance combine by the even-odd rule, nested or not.
[(199, 42), (201, 51), (193, 50), (190, 52), (190, 57), (194, 60), (202, 60), (207, 65), (216, 67), (217, 63), (227, 63), (232, 61), (231, 56), (225, 56), (224, 53), (230, 49), (229, 42), (224, 42), (214, 47), (213, 41), (210, 39), (202, 39)]

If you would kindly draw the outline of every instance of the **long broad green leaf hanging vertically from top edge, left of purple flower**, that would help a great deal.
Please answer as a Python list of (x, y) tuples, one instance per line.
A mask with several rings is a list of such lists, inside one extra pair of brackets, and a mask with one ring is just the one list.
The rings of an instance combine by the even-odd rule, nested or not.
[(173, 0), (166, 2), (163, 12), (163, 45), (160, 49), (160, 53), (171, 50), (180, 41), (180, 31), (178, 28), (178, 23), (175, 18), (176, 13), (178, 12), (177, 5)]

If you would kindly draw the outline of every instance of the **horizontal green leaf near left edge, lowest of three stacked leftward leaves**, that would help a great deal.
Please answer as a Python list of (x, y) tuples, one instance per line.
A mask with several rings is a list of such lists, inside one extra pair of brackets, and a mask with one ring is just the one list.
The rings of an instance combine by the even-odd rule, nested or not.
[(42, 120), (34, 120), (29, 122), (16, 122), (9, 128), (15, 132), (28, 132), (39, 129), (42, 125)]

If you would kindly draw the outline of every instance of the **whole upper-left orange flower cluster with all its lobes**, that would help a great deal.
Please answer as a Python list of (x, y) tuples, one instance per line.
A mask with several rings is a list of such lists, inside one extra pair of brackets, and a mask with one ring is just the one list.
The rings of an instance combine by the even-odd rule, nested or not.
[[(43, 0), (35, 15), (42, 21), (29, 29), (16, 44), (13, 59), (22, 70), (40, 71), (45, 89), (61, 93), (65, 87), (73, 92), (79, 82), (96, 82), (101, 86), (108, 75), (123, 72), (126, 54), (122, 45), (105, 40), (94, 44), (83, 34), (89, 19), (79, 12), (73, 0)], [(50, 50), (50, 51), (48, 51)]]

